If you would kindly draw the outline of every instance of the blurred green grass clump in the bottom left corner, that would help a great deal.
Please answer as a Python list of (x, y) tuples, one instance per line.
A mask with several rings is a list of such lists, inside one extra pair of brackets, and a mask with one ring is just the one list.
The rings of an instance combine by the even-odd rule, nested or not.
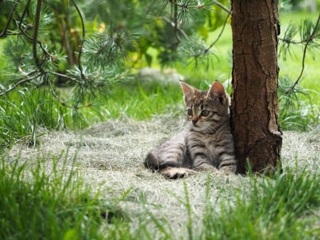
[(28, 169), (21, 159), (1, 157), (0, 239), (101, 239), (97, 230), (107, 207), (75, 169), (58, 169), (56, 161), (49, 175), (40, 158)]

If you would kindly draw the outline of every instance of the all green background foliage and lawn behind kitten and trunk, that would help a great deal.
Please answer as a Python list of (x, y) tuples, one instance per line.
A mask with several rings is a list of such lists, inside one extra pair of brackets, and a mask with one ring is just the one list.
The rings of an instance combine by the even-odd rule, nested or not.
[[(215, 79), (230, 84), (229, 1), (0, 5), (2, 147), (21, 137), (36, 144), (39, 127), (178, 115), (178, 79), (149, 83), (140, 74), (146, 67), (182, 73), (198, 88), (208, 88)], [(280, 1), (279, 6), (280, 123), (284, 130), (310, 130), (319, 122), (319, 83), (313, 80), (319, 71), (313, 67), (319, 55), (319, 18), (302, 11), (305, 1)], [(168, 107), (172, 105), (176, 107)]]

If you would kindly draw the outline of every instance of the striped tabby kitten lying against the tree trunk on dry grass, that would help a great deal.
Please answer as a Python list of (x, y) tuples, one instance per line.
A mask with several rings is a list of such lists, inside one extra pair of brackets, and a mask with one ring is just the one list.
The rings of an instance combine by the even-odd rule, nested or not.
[(237, 161), (225, 88), (218, 81), (208, 91), (180, 83), (188, 128), (151, 150), (144, 166), (171, 179), (198, 171), (235, 172)]

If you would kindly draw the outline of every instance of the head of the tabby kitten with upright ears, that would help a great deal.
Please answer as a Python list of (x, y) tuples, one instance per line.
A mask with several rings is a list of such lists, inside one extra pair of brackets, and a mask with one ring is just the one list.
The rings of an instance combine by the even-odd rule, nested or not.
[(194, 130), (215, 127), (228, 115), (228, 98), (223, 85), (217, 81), (208, 91), (198, 90), (181, 82), (187, 120)]

